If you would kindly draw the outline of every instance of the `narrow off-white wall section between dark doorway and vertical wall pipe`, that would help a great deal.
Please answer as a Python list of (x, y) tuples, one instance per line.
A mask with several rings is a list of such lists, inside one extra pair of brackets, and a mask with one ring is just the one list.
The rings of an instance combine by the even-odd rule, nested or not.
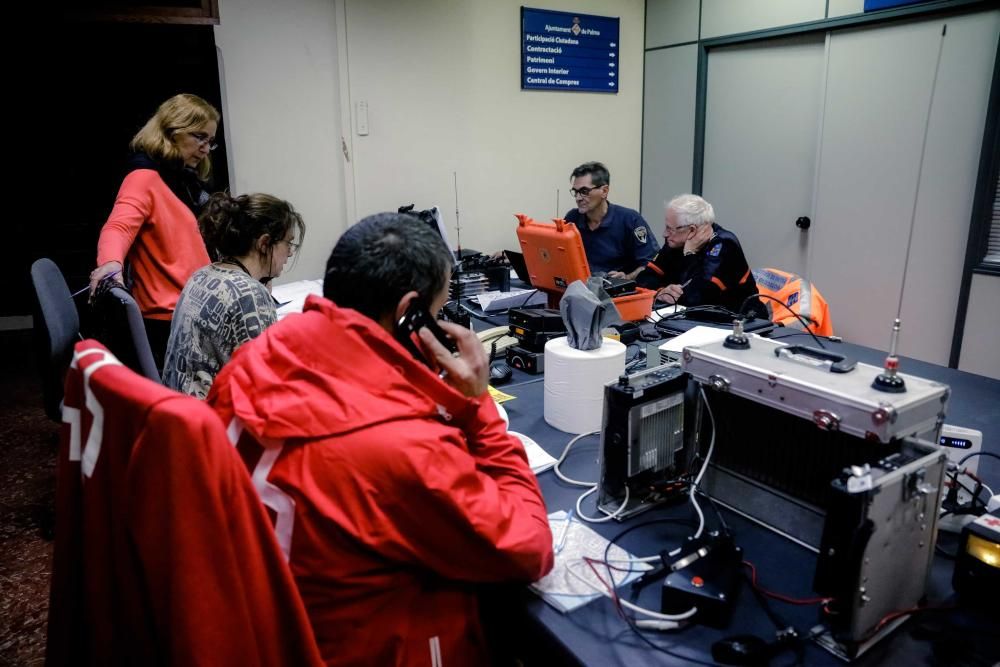
[(320, 276), (347, 225), (333, 2), (220, 0), (219, 14), (232, 191), (287, 199), (305, 220), (277, 282)]

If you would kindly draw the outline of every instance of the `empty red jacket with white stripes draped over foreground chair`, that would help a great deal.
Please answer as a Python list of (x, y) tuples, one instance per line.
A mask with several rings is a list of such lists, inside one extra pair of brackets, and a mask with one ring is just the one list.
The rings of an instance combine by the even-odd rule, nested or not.
[(46, 664), (321, 664), (219, 416), (78, 343), (66, 376)]

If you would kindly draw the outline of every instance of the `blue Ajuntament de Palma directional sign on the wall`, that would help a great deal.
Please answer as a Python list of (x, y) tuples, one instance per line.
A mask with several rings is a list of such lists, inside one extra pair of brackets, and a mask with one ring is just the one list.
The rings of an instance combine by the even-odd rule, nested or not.
[(617, 93), (619, 23), (521, 7), (521, 89)]

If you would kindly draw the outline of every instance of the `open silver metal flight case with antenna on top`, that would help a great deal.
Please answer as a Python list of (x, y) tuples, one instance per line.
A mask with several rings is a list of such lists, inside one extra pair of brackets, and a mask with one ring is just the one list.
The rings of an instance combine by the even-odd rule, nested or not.
[(905, 391), (881, 391), (880, 368), (758, 337), (687, 347), (682, 365), (705, 391), (702, 455), (714, 437), (703, 490), (818, 554), (813, 585), (832, 601), (817, 641), (864, 653), (904, 620), (890, 614), (924, 597), (948, 387), (899, 374)]

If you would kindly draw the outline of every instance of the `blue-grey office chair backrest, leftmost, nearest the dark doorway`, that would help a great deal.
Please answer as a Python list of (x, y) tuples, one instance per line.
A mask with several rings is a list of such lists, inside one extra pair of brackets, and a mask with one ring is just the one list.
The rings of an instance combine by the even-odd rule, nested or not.
[(80, 340), (80, 314), (70, 295), (62, 271), (51, 259), (43, 257), (31, 265), (35, 288), (35, 354), (42, 380), (45, 414), (61, 419), (63, 378), (73, 356), (73, 345)]

